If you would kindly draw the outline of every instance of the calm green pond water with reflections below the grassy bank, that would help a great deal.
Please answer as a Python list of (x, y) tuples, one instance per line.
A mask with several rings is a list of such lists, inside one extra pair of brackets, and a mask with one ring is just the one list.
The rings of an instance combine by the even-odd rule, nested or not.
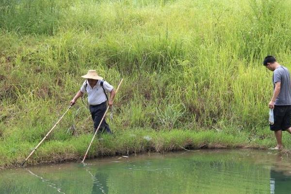
[(289, 194), (288, 155), (262, 150), (150, 153), (0, 171), (0, 194)]

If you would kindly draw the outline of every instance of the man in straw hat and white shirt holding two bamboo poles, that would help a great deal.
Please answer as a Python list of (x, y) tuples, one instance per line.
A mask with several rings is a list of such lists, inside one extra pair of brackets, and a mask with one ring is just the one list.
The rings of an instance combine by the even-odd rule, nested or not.
[[(82, 78), (86, 78), (81, 86), (81, 89), (76, 94), (76, 96), (70, 101), (71, 105), (74, 105), (79, 97), (82, 97), (84, 93), (88, 93), (88, 103), (90, 108), (90, 113), (94, 121), (94, 132), (96, 131), (99, 123), (107, 109), (106, 102), (108, 105), (113, 105), (113, 99), (115, 96), (115, 90), (113, 86), (107, 81), (104, 81), (102, 77), (98, 76), (95, 70), (89, 70), (88, 73)], [(106, 92), (110, 93), (110, 98), (108, 99)], [(100, 131), (106, 131), (107, 133), (112, 133), (105, 119), (100, 125)]]

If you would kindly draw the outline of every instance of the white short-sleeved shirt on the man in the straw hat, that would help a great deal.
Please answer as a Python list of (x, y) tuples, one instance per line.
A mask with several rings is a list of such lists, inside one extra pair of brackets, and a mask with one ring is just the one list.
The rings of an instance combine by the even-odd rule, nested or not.
[[(106, 92), (111, 92), (113, 86), (110, 85), (107, 81), (103, 82), (103, 88), (100, 84), (100, 80), (97, 81), (96, 85), (92, 88), (89, 82), (86, 80), (81, 86), (82, 93), (88, 93), (88, 103), (89, 105), (97, 105), (105, 102), (107, 100), (103, 88)], [(87, 87), (85, 88), (87, 83)]]

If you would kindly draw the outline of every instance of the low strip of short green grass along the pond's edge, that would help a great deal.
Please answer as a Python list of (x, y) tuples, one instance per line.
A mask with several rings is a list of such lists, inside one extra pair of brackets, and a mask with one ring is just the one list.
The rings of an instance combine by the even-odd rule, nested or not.
[[(29, 164), (81, 161), (93, 135), (80, 135), (67, 140), (50, 140), (29, 159)], [(273, 138), (241, 135), (226, 135), (223, 132), (193, 130), (155, 131), (134, 129), (118, 131), (114, 135), (99, 135), (92, 145), (88, 158), (98, 156), (127, 155), (140, 152), (167, 152), (200, 148), (268, 148)], [(1, 142), (0, 167), (18, 166), (24, 161), (35, 143), (7, 139)], [(284, 138), (284, 142), (290, 138)], [(290, 147), (288, 147), (290, 148)]]

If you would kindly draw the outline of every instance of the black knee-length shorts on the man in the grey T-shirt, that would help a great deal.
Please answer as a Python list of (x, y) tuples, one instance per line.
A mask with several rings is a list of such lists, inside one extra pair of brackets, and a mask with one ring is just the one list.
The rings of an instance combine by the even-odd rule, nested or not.
[(270, 125), (270, 129), (286, 130), (291, 127), (291, 105), (277, 106), (274, 108), (274, 125)]

